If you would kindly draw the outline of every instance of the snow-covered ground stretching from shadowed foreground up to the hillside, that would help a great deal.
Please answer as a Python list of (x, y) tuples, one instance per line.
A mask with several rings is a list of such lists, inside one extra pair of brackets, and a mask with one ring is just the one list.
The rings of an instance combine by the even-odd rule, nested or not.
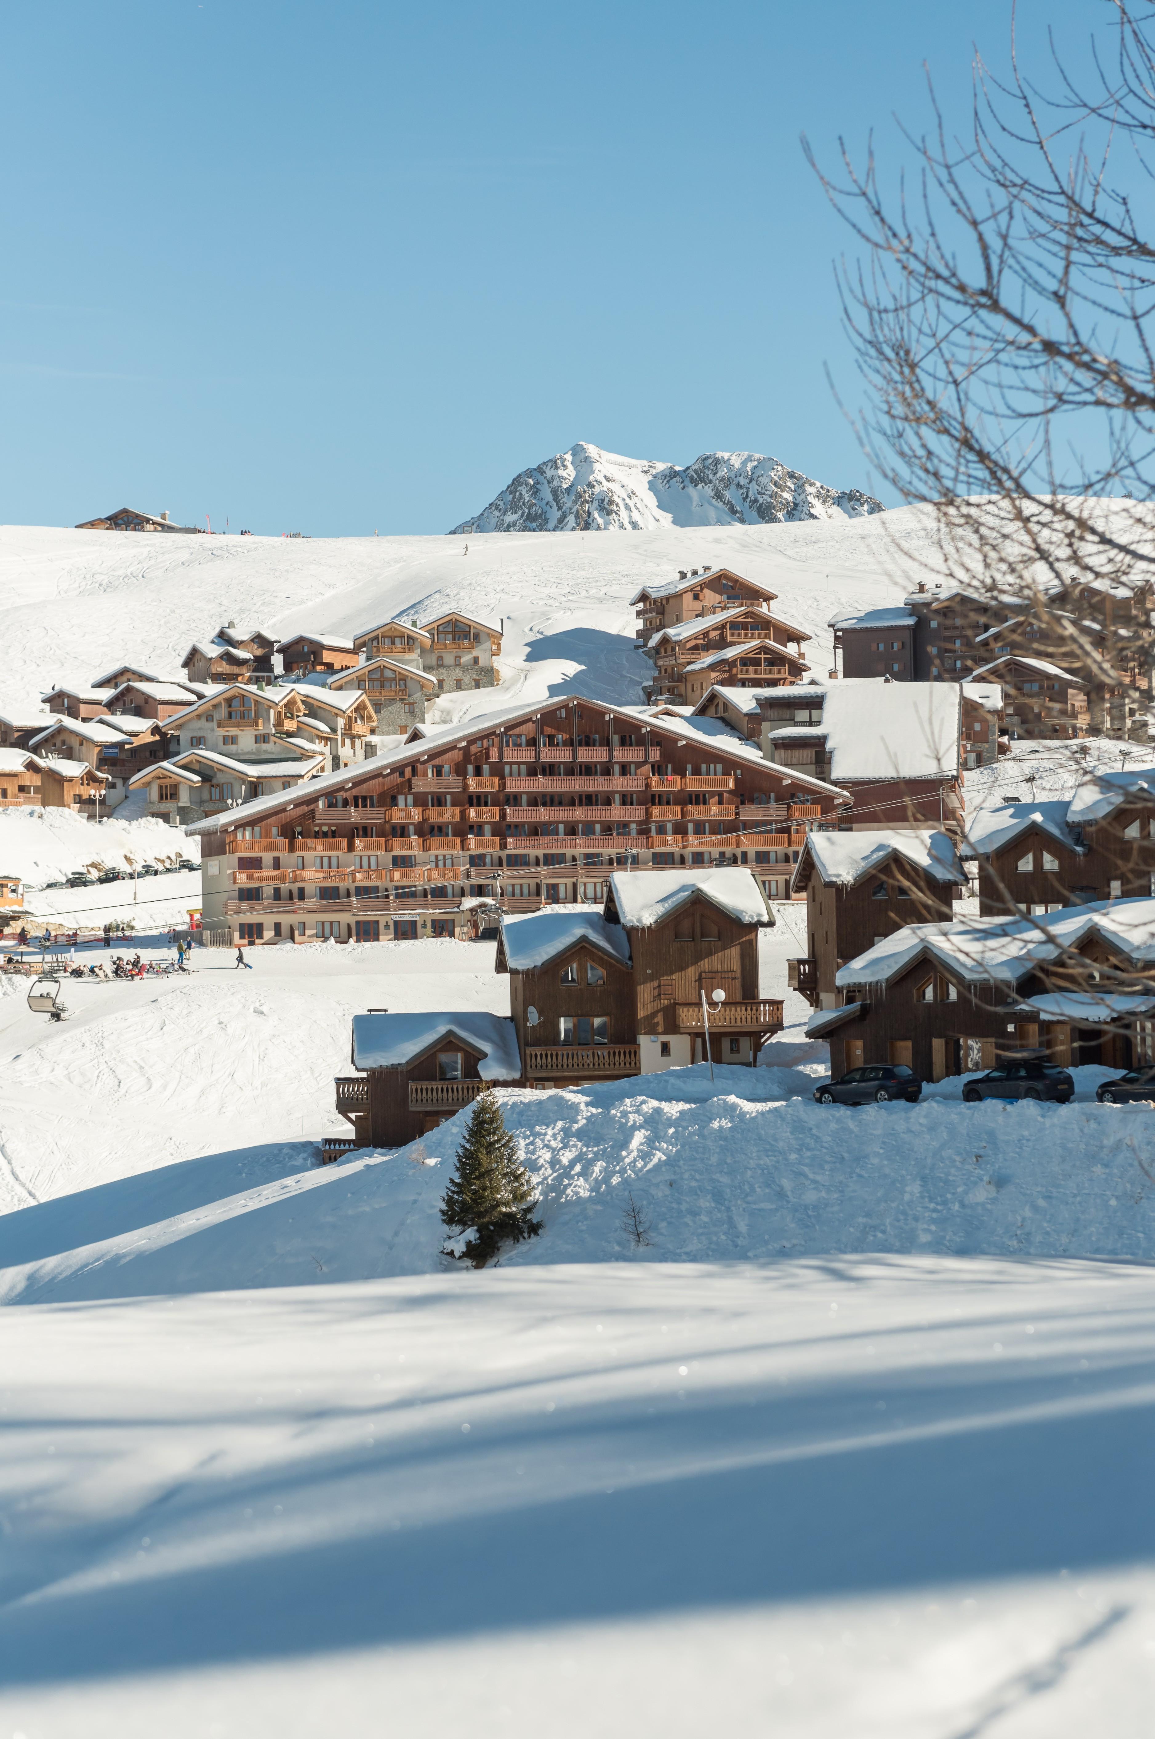
[[(101, 657), (170, 670), (174, 598), (197, 633), (240, 621), (224, 591), (197, 598), (221, 562), (254, 609), (292, 583), (301, 626), (360, 626), (377, 577), (339, 619), (325, 598), (369, 543), (365, 562), (404, 565), (398, 602), (461, 607), (451, 562), (484, 551), (494, 590), (470, 614), (543, 630), (518, 630), (511, 683), (569, 680), (529, 654), (574, 635), (571, 663), (609, 690), (637, 659), (623, 596), (659, 567), (778, 563), (791, 619), (825, 621), (892, 602), (861, 556), (884, 520), (468, 556), (379, 539), (344, 567), (336, 543), (181, 556), (90, 534), (89, 569), (82, 534), (0, 543), (43, 546), (16, 643), (63, 590), (99, 631), (136, 600), (141, 643), (122, 617), (66, 668), (57, 640), (59, 680)], [(602, 664), (598, 633), (624, 642)], [(1037, 788), (998, 767), (997, 800), (1066, 791), (1061, 767), (1033, 770)], [(56, 880), (73, 849), (28, 835), (21, 861)], [(165, 911), (139, 927), (146, 955)], [(351, 1016), (508, 1012), (492, 944), (268, 948), (252, 972), (198, 949), (186, 979), (66, 981), (64, 1024), (0, 981), (3, 1727), (1146, 1734), (1155, 1111), (1098, 1106), (1099, 1069), (1075, 1071), (1068, 1108), (964, 1106), (957, 1080), (918, 1106), (819, 1106), (825, 1047), (784, 991), (804, 937), (802, 908), (764, 936), (788, 1028), (757, 1071), (503, 1094), (544, 1229), (482, 1273), (440, 1254), (463, 1118), (324, 1169), (317, 1143), (348, 1130)]]

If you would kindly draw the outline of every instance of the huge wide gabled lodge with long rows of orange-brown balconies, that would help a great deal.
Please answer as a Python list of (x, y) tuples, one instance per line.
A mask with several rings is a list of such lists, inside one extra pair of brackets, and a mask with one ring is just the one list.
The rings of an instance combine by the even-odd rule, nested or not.
[[(304, 710), (301, 689), (277, 692)], [(244, 694), (254, 710), (268, 706), (268, 690)], [(197, 716), (219, 708), (212, 697)], [(188, 746), (183, 720), (167, 729), (177, 725)], [(454, 725), (414, 725), (372, 760), (191, 831), (202, 840), (207, 929), (237, 939), (245, 923), (250, 939), (270, 941), (268, 930), (256, 934), (264, 913), (254, 908), (282, 904), (275, 887), (282, 899), (292, 887), (297, 941), (353, 941), (360, 922), (377, 923), (381, 939), (433, 934), (454, 923), (463, 901), (499, 897), (506, 911), (602, 906), (619, 868), (753, 868), (755, 850), (790, 845), (791, 830), (833, 826), (845, 802), (830, 783), (771, 765), (738, 737), (704, 737), (680, 715), (652, 718), (565, 694)], [(299, 868), (282, 857), (287, 838), (306, 842)], [(264, 861), (238, 868), (238, 852), (277, 856), (275, 878)], [(280, 913), (277, 922), (285, 922)]]

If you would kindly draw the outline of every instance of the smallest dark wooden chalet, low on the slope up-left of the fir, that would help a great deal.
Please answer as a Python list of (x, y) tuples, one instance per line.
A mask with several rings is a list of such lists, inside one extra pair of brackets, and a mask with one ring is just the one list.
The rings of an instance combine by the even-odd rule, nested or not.
[(487, 1087), (518, 1085), (513, 1021), (477, 1009), (353, 1016), (357, 1075), (336, 1080), (336, 1106), (353, 1127), (322, 1144), (334, 1160), (350, 1148), (400, 1148), (471, 1104)]

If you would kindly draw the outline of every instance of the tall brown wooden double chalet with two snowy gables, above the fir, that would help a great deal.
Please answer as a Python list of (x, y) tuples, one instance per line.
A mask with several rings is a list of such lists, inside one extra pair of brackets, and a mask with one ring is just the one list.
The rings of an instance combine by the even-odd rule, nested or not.
[(741, 868), (614, 871), (602, 911), (504, 913), (496, 967), (510, 974), (527, 1083), (706, 1061), (706, 1023), (715, 1063), (753, 1066), (783, 1024), (781, 1002), (758, 995), (758, 929), (772, 923)]

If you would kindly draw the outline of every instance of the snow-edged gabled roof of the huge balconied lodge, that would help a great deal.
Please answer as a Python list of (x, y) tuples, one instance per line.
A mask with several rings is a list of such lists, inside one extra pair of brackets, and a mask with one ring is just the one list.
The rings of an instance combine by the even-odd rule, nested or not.
[[(955, 685), (951, 683), (951, 687)], [(238, 692), (242, 694), (247, 692), (249, 696), (254, 694), (252, 689), (240, 689), (240, 687)], [(256, 692), (259, 694), (261, 690)], [(273, 690), (264, 689), (266, 697)], [(404, 743), (400, 743), (393, 750), (388, 750), (388, 753), (374, 755), (367, 762), (358, 762), (357, 767), (343, 767), (339, 772), (330, 772), (324, 774), (318, 779), (310, 779), (306, 796), (308, 802), (313, 803), (317, 802), (318, 796), (350, 790), (360, 779), (381, 777), (383, 774), (393, 770), (400, 772), (400, 769), (411, 762), (430, 760), (442, 746), (456, 748), (457, 744), (464, 744), (475, 737), (496, 736), (501, 732), (503, 723), (518, 723), (524, 718), (548, 718), (548, 715), (555, 708), (562, 711), (569, 706), (588, 706), (591, 711), (604, 713), (605, 704), (607, 704), (605, 701), (591, 701), (584, 694), (571, 692), (571, 694), (550, 696), (548, 701), (537, 703), (536, 706), (534, 704), (527, 706), (525, 701), (520, 701), (515, 706), (503, 706), (501, 710), (492, 713), (471, 713), (464, 720), (457, 720), (456, 723), (451, 725), (437, 725), (435, 729), (430, 729), (426, 725), (414, 725), (414, 729), (405, 734)], [(614, 706), (614, 716), (630, 720), (640, 725), (642, 729), (652, 725), (652, 718), (642, 708)], [(174, 723), (176, 720), (169, 718), (165, 723), (165, 730), (170, 730)], [(741, 743), (738, 737), (731, 741), (706, 737), (692, 729), (692, 722), (689, 718), (680, 718), (677, 725), (666, 725), (664, 729), (666, 730), (677, 729), (678, 732), (684, 732), (684, 737), (678, 746), (689, 746), (692, 743), (698, 748), (701, 744), (701, 750), (704, 753), (710, 753), (711, 756), (725, 755), (727, 760), (738, 762), (739, 765), (746, 767), (753, 765), (758, 769), (765, 767), (765, 762), (753, 743)], [(414, 753), (414, 750), (417, 753)], [(814, 793), (816, 796), (831, 796), (835, 798), (837, 803), (845, 803), (845, 793), (837, 790), (837, 786), (828, 784), (826, 779), (816, 779), (812, 774), (800, 772), (797, 767), (781, 767), (781, 769), (774, 767), (771, 770), (778, 774), (781, 779), (784, 779), (793, 791), (805, 793), (800, 798), (802, 802), (809, 800), (809, 795)], [(294, 802), (297, 802), (297, 798), (294, 798)], [(237, 809), (230, 812), (228, 826), (249, 821), (259, 821), (261, 816), (284, 809), (284, 803), (285, 803), (284, 795), (254, 796), (244, 805), (238, 803)], [(214, 816), (207, 821), (190, 823), (186, 831), (210, 833), (210, 831), (219, 831), (219, 828), (221, 828), (221, 817)], [(647, 876), (651, 875), (652, 871), (647, 871)]]

